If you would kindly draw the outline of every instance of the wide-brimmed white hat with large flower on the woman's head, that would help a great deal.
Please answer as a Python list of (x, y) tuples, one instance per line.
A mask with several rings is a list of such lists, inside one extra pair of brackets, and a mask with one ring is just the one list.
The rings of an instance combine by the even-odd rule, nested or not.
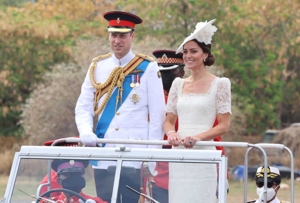
[(176, 54), (178, 54), (180, 51), (183, 50), (183, 46), (185, 43), (187, 43), (190, 40), (196, 39), (200, 43), (210, 44), (211, 43), (211, 37), (214, 35), (214, 32), (217, 31), (216, 26), (211, 25), (216, 19), (213, 19), (209, 22), (198, 22), (196, 25), (196, 29), (193, 33), (190, 34), (183, 43), (179, 46), (179, 48), (176, 51)]

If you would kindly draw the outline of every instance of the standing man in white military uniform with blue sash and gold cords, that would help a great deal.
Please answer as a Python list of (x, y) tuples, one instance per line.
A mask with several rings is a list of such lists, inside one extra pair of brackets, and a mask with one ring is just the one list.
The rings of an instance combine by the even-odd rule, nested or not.
[[(121, 11), (104, 13), (109, 21), (110, 47), (113, 54), (94, 58), (82, 84), (81, 94), (75, 108), (75, 119), (81, 141), (95, 146), (96, 138), (163, 140), (164, 92), (158, 65), (147, 55), (133, 54), (134, 26), (142, 22), (138, 16)], [(149, 119), (148, 122), (148, 112)], [(95, 134), (93, 116), (99, 114)], [(100, 147), (119, 147), (119, 144), (102, 144)], [(153, 145), (126, 145), (133, 148), (161, 148)], [(110, 202), (114, 174), (107, 173), (114, 161), (90, 162), (94, 168), (97, 196)], [(152, 166), (153, 165), (153, 166)], [(141, 162), (123, 162), (136, 173), (121, 173), (118, 202), (137, 202), (125, 187), (128, 184), (140, 189)], [(150, 171), (155, 163), (149, 163)], [(103, 183), (105, 182), (105, 185)], [(111, 185), (107, 185), (110, 182)], [(129, 193), (127, 196), (126, 194)]]

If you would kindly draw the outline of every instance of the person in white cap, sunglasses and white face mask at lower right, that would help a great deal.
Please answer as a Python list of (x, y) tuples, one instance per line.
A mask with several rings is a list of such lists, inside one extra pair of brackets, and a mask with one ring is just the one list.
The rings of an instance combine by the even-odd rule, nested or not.
[[(268, 178), (267, 178), (267, 203), (290, 203), (286, 201), (280, 201), (276, 194), (280, 188), (279, 184), (281, 183), (281, 176), (279, 173), (279, 170), (275, 167), (269, 167), (267, 168), (268, 172)], [(265, 167), (259, 167), (257, 169), (256, 175), (254, 180), (256, 180), (256, 193), (259, 196), (260, 193), (264, 190), (264, 172)], [(264, 194), (265, 195), (265, 194)], [(262, 202), (264, 199), (264, 195), (262, 196)], [(258, 203), (257, 200), (249, 201), (249, 202), (255, 202)]]

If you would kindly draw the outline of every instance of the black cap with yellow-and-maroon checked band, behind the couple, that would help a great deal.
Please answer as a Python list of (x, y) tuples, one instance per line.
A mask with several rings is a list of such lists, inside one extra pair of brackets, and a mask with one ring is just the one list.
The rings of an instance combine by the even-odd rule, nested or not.
[(170, 50), (157, 50), (152, 54), (158, 59), (159, 70), (173, 70), (179, 66), (184, 66), (183, 53)]

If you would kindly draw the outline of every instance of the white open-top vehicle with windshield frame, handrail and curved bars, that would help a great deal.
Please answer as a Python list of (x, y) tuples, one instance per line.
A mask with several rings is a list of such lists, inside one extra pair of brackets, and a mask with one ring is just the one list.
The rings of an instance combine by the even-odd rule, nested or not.
[[(68, 140), (69, 139), (69, 140)], [(67, 138), (67, 142), (80, 142), (80, 138)], [(153, 144), (153, 145), (166, 145), (167, 141), (153, 141), (153, 140), (106, 140), (98, 139), (97, 143), (104, 142), (118, 142), (128, 144)], [(249, 143), (233, 143), (233, 142), (197, 142), (196, 145), (206, 146), (229, 146), (229, 147), (250, 147), (245, 157), (245, 174), (247, 174), (247, 157), (249, 152), (256, 148), (263, 152), (264, 165), (267, 166), (267, 157), (262, 148), (275, 148), (275, 149), (286, 149), (283, 145), (272, 145), (272, 144), (249, 144)], [(291, 176), (291, 202), (293, 203), (293, 157), (291, 155), (292, 164), (292, 176)], [(32, 170), (36, 173), (50, 174), (51, 168), (49, 164), (53, 159), (80, 159), (80, 160), (113, 160), (116, 163), (115, 167), (115, 181), (112, 191), (111, 203), (116, 203), (119, 178), (122, 170), (123, 161), (146, 161), (146, 162), (180, 162), (180, 163), (211, 163), (219, 164), (219, 175), (218, 175), (218, 196), (216, 202), (226, 203), (227, 195), (227, 157), (222, 155), (222, 151), (219, 150), (170, 150), (170, 149), (139, 149), (139, 148), (126, 148), (121, 146), (118, 148), (99, 148), (99, 147), (62, 147), (62, 146), (22, 146), (19, 152), (16, 152), (11, 168), (10, 176), (7, 183), (4, 198), (1, 199), (0, 203), (14, 203), (36, 201), (30, 196), (26, 196), (16, 188), (20, 188), (28, 193), (29, 188), (22, 188), (22, 185), (18, 185), (18, 180), (22, 177), (28, 177), (28, 172), (24, 172), (22, 166), (30, 166), (32, 164)], [(265, 171), (266, 173), (266, 171)], [(30, 174), (30, 173), (29, 173)], [(265, 174), (265, 182), (267, 175)], [(49, 180), (48, 176), (48, 180)], [(245, 192), (244, 192), (244, 203), (247, 198), (247, 178), (245, 180)], [(128, 184), (130, 185), (130, 183)], [(39, 196), (39, 184), (33, 184), (31, 186), (35, 193), (31, 195)], [(94, 185), (95, 187), (95, 185)], [(180, 187), (180, 186), (179, 186)], [(266, 187), (266, 184), (265, 184)], [(48, 190), (50, 186), (48, 186)], [(184, 188), (182, 188), (184, 190)], [(132, 192), (128, 190), (128, 192)], [(139, 191), (140, 192), (140, 191)], [(266, 192), (263, 191), (262, 193)], [(132, 192), (132, 195), (137, 195)], [(262, 194), (259, 201), (262, 199)], [(238, 201), (242, 202), (242, 200)]]

